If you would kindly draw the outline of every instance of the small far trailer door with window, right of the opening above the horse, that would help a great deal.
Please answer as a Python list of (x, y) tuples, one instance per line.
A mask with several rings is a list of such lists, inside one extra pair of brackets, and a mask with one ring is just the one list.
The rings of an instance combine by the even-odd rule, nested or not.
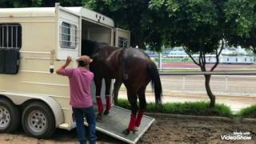
[(114, 46), (121, 48), (130, 47), (130, 31), (115, 28), (115, 42)]

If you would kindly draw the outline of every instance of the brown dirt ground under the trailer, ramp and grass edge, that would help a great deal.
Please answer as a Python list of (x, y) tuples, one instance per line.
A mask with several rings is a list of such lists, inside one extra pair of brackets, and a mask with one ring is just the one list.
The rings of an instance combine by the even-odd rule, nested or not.
[[(198, 118), (175, 118), (173, 116), (154, 116), (156, 121), (138, 143), (256, 143), (256, 123), (220, 120), (202, 120)], [(221, 135), (230, 135), (234, 131), (250, 132), (250, 141), (222, 141)], [(123, 143), (106, 134), (97, 132), (97, 143)], [(1, 144), (55, 144), (78, 143), (76, 131), (56, 130), (50, 139), (27, 137), (22, 129), (14, 134), (0, 134)]]

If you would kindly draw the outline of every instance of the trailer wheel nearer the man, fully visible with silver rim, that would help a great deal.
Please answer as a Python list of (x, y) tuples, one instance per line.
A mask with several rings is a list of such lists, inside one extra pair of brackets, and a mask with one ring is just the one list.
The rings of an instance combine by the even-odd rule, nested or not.
[(49, 138), (55, 130), (54, 114), (46, 104), (32, 102), (22, 113), (22, 127), (35, 138)]

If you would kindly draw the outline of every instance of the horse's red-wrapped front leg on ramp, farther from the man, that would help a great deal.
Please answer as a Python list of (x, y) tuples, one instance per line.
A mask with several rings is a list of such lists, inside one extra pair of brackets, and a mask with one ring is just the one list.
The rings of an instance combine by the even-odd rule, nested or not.
[(112, 104), (112, 101), (110, 98), (110, 86), (111, 86), (111, 79), (106, 79), (105, 78), (105, 83), (106, 83), (106, 91), (105, 91), (105, 94), (106, 94), (106, 110), (104, 111), (104, 114), (107, 115), (110, 113), (110, 108), (111, 108), (111, 104)]

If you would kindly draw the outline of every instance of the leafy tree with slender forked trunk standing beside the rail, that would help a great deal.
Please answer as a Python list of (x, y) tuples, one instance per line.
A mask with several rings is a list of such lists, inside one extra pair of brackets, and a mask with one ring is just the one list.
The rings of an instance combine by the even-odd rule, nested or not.
[[(222, 0), (151, 0), (150, 9), (161, 14), (162, 34), (166, 44), (183, 46), (186, 53), (202, 71), (214, 71), (224, 47), (226, 18)], [(162, 14), (165, 14), (163, 17)], [(231, 31), (231, 30), (230, 30)], [(198, 60), (192, 54), (199, 54)], [(206, 54), (215, 54), (214, 66), (207, 70)], [(215, 95), (210, 89), (210, 74), (205, 74), (206, 92), (210, 106), (215, 104)]]

